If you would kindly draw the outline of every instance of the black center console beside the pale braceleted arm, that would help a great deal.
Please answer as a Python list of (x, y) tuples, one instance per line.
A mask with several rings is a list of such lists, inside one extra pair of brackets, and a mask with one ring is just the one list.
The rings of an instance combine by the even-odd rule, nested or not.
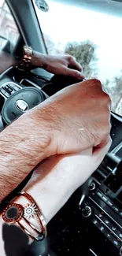
[(105, 156), (71, 203), (54, 217), (58, 228), (52, 248), (57, 255), (122, 255), (121, 146)]

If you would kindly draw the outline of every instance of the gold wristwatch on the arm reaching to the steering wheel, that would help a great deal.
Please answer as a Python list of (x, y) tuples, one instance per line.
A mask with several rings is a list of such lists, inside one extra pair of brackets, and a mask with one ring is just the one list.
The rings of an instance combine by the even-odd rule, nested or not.
[(31, 46), (24, 46), (24, 57), (19, 65), (16, 66), (20, 71), (28, 72), (31, 67), (31, 59), (33, 55), (33, 50)]

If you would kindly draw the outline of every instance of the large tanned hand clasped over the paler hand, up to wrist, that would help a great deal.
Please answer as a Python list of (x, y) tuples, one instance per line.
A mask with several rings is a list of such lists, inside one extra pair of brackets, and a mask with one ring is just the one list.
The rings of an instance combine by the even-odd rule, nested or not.
[(66, 87), (43, 102), (43, 118), (52, 125), (54, 154), (105, 146), (111, 127), (110, 104), (109, 95), (95, 79)]

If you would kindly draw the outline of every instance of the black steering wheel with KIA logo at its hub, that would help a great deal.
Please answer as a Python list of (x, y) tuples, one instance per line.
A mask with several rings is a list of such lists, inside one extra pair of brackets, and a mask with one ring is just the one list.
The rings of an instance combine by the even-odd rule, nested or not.
[(25, 87), (24, 72), (10, 68), (0, 76), (0, 131), (49, 96), (36, 84)]

